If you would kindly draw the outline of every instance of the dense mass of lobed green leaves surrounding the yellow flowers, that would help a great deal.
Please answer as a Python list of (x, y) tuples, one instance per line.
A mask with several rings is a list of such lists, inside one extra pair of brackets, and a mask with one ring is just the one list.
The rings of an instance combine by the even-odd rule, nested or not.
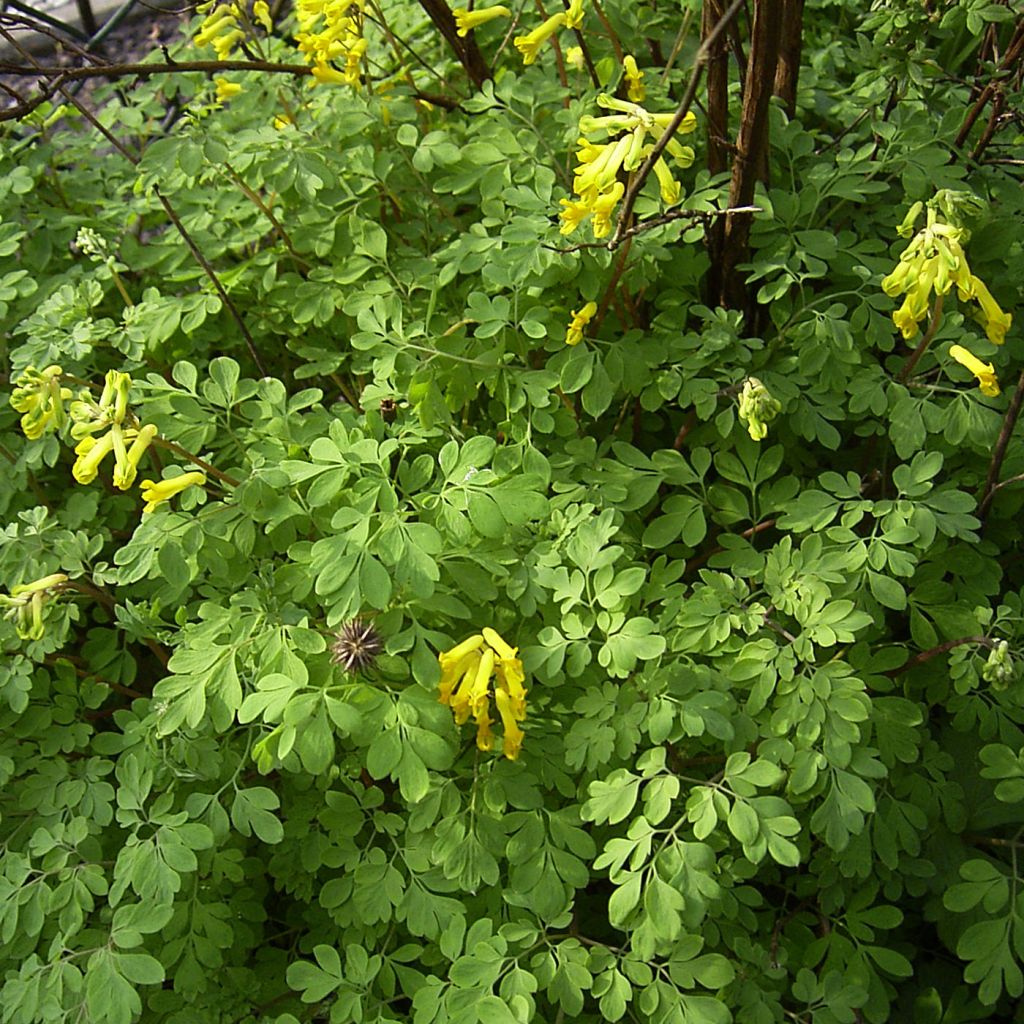
[[(1019, 119), (995, 161), (954, 144), (1011, 7), (940, 6), (808, 0), (748, 316), (709, 299), (713, 218), (559, 233), (585, 71), (488, 25), (473, 89), (404, 0), (367, 5), (402, 66), (382, 36), (359, 90), (99, 87), (137, 165), (72, 105), (4, 123), (9, 380), (131, 374), (162, 439), (139, 476), (206, 483), (142, 515), (109, 465), (74, 482), (67, 425), (0, 407), (4, 599), (61, 577), (41, 636), (0, 620), (2, 1024), (1021, 1019), (1019, 422), (986, 477), (1024, 151)], [(697, 7), (606, 0), (605, 30), (588, 4), (602, 87), (608, 31), (657, 54), (688, 26), (646, 71), (671, 110)], [(675, 173), (707, 213), (702, 129)], [(950, 294), (903, 373), (881, 282), (939, 188), (983, 199), (971, 267), (1015, 322), (996, 347)], [(361, 674), (332, 651), (355, 617)], [(516, 759), (437, 699), (484, 627), (527, 673)]]

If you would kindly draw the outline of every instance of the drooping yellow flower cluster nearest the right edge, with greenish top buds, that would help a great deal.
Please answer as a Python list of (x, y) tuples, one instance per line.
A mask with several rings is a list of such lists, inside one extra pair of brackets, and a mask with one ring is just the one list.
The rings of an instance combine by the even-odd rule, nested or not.
[[(922, 203), (913, 205), (900, 225), (900, 234), (909, 237), (923, 207)], [(963, 246), (966, 239), (964, 227), (944, 222), (936, 205), (928, 205), (927, 223), (903, 250), (896, 269), (882, 281), (882, 290), (890, 298), (904, 294), (893, 323), (905, 339), (912, 338), (928, 316), (933, 289), (936, 295), (946, 295), (955, 285), (962, 302), (977, 300), (989, 341), (995, 345), (1006, 341), (1013, 317), (999, 308), (984, 282), (971, 273)]]

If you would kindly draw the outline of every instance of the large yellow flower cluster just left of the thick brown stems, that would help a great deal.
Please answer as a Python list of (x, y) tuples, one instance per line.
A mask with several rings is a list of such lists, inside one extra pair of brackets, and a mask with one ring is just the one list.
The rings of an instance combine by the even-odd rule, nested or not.
[[(626, 191), (618, 180), (621, 171), (633, 171), (654, 147), (654, 142), (672, 121), (672, 114), (651, 114), (638, 103), (601, 93), (597, 102), (605, 110), (614, 111), (606, 117), (580, 119), (581, 137), (577, 144), (575, 178), (572, 182), (578, 199), (563, 199), (559, 214), (562, 234), (571, 234), (584, 221), (593, 217), (595, 239), (611, 232), (611, 216)], [(696, 127), (696, 118), (687, 114), (678, 131), (687, 133)], [(603, 142), (588, 136), (607, 135)], [(675, 137), (669, 140), (668, 153), (678, 167), (693, 163), (693, 151), (682, 145)], [(662, 200), (670, 206), (678, 203), (682, 195), (679, 182), (673, 176), (664, 157), (654, 164)]]

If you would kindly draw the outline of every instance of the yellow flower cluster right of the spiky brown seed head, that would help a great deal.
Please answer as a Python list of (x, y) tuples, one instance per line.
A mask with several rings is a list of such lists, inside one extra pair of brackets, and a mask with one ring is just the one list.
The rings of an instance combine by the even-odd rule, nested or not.
[(481, 751), (494, 746), (490, 731), (492, 678), (494, 698), (505, 730), (504, 753), (510, 761), (519, 757), (523, 731), (519, 723), (526, 718), (525, 675), (518, 648), (510, 647), (493, 629), (484, 628), (468, 640), (439, 654), (441, 667), (438, 700), (452, 709), (456, 725), (470, 716), (476, 722), (476, 745)]

